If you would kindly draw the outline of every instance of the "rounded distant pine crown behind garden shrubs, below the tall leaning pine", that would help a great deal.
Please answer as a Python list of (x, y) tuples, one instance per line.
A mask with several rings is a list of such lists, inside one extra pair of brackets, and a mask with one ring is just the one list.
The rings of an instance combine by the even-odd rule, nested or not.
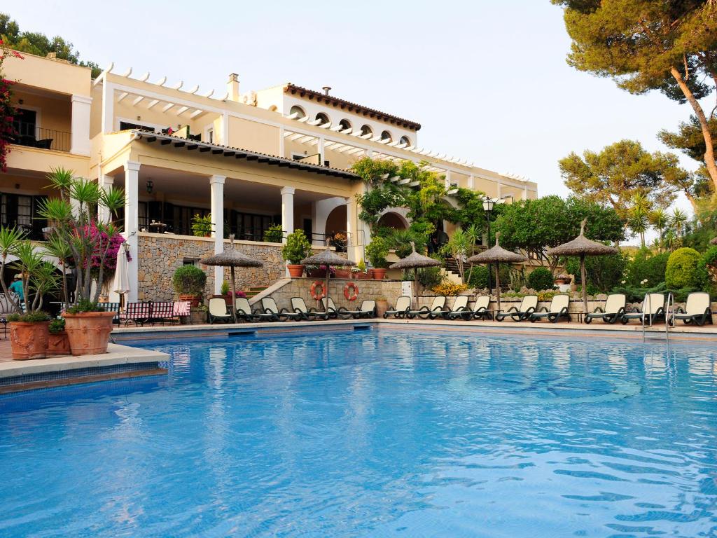
[(559, 161), (559, 167), (576, 196), (609, 205), (627, 220), (637, 195), (647, 197), (650, 205), (668, 207), (676, 192), (690, 192), (693, 175), (678, 162), (675, 154), (650, 154), (640, 142), (622, 140), (598, 153), (571, 153)]

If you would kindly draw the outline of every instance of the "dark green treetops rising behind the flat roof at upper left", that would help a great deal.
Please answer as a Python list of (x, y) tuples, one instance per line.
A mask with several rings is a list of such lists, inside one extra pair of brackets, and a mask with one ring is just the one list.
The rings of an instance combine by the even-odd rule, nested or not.
[(0, 39), (7, 47), (20, 52), (37, 56), (47, 56), (50, 52), (54, 52), (60, 60), (90, 67), (93, 78), (100, 75), (102, 71), (95, 62), (80, 60), (80, 53), (65, 38), (55, 36), (50, 39), (39, 32), (21, 32), (19, 24), (6, 13), (0, 13)]

